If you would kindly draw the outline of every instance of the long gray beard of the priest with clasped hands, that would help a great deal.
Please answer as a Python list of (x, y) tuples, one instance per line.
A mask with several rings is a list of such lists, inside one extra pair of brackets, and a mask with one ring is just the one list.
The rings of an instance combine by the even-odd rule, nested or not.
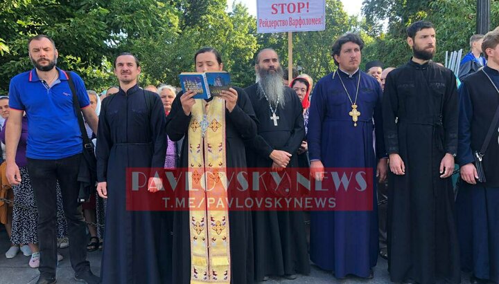
[(283, 70), (281, 67), (276, 69), (276, 73), (269, 73), (267, 70), (259, 70), (258, 76), (259, 86), (267, 95), (267, 98), (272, 107), (277, 106), (277, 102), (284, 106), (284, 88), (283, 84)]

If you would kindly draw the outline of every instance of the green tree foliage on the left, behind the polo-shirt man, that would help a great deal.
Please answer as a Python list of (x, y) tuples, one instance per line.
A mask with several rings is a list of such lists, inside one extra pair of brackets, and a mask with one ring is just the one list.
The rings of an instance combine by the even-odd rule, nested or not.
[(203, 46), (220, 50), (234, 84), (244, 86), (252, 80), (246, 73), (256, 52), (256, 23), (240, 4), (225, 10), (225, 0), (3, 1), (0, 91), (32, 68), (27, 41), (40, 33), (54, 39), (58, 66), (76, 70), (97, 91), (116, 84), (112, 61), (119, 53), (139, 57), (142, 84), (177, 85), (178, 74), (194, 69), (193, 55)]

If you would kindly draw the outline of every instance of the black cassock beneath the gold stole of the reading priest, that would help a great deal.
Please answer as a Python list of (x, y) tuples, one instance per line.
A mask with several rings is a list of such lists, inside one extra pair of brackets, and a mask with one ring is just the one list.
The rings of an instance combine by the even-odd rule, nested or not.
[[(231, 113), (225, 109), (225, 135), (227, 138), (227, 168), (245, 168), (246, 156), (243, 140), (256, 135), (256, 117), (247, 94), (242, 88), (232, 87), (238, 92), (236, 107)], [(166, 118), (166, 133), (172, 141), (184, 138), (180, 154), (180, 167), (187, 169), (189, 161), (188, 129), (191, 115), (185, 115), (179, 93)], [(197, 100), (196, 104), (201, 104)], [(189, 211), (175, 211), (173, 216), (173, 283), (186, 284), (191, 281), (191, 243), (189, 233)], [(253, 283), (252, 216), (250, 211), (229, 211), (231, 283)]]

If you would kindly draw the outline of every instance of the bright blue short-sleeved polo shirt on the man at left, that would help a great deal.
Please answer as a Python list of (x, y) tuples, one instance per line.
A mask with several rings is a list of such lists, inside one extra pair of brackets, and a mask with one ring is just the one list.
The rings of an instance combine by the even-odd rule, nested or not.
[[(59, 79), (46, 86), (36, 70), (21, 73), (10, 80), (9, 106), (26, 111), (28, 147), (26, 157), (58, 160), (82, 153), (82, 134), (73, 109), (73, 95), (65, 71), (57, 68)], [(71, 73), (82, 108), (90, 105), (80, 76)]]

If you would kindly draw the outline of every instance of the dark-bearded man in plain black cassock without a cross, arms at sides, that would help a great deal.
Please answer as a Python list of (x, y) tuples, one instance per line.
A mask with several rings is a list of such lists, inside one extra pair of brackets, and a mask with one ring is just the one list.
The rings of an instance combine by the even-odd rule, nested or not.
[(454, 74), (431, 61), (435, 29), (407, 29), (410, 61), (387, 75), (383, 94), (389, 154), (388, 269), (394, 282), (459, 283), (450, 176), (457, 152)]

